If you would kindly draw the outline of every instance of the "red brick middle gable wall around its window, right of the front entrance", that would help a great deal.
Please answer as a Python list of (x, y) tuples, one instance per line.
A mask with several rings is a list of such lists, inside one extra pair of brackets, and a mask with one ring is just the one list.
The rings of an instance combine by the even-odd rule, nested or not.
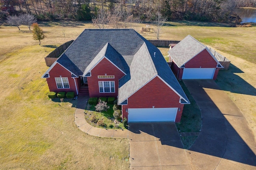
[[(98, 75), (114, 75), (114, 79), (98, 79)], [(87, 77), (90, 97), (117, 97), (118, 80), (124, 73), (114, 66), (106, 58), (102, 59), (91, 71), (91, 77)], [(115, 93), (100, 93), (98, 81), (115, 81)]]

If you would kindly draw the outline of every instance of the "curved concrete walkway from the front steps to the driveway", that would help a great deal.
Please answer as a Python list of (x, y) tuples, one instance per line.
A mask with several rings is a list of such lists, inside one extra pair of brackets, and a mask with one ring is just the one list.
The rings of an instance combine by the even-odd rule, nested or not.
[(96, 128), (90, 125), (84, 118), (84, 109), (88, 102), (88, 96), (79, 96), (75, 111), (75, 123), (77, 127), (87, 134), (106, 138), (128, 138), (128, 130)]

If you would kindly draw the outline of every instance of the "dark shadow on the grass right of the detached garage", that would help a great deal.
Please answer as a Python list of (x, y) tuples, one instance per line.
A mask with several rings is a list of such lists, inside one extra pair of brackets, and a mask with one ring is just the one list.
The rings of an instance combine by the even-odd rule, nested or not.
[(234, 73), (244, 72), (230, 63), (229, 70), (219, 71), (216, 83), (225, 91), (256, 96), (256, 89)]

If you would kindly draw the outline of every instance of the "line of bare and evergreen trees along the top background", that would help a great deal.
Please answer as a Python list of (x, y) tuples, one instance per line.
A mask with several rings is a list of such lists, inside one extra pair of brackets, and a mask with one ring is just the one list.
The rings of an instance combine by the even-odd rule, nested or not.
[(0, 0), (0, 17), (32, 14), (38, 20), (94, 20), (111, 13), (126, 20), (230, 20), (235, 7), (256, 7), (256, 0)]

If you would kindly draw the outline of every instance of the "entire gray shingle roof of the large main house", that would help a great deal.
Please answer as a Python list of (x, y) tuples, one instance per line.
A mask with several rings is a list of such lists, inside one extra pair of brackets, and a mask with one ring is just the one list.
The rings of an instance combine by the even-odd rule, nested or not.
[(126, 73), (119, 80), (118, 103), (126, 103), (130, 95), (156, 76), (189, 103), (159, 49), (132, 29), (86, 29), (56, 62), (76, 76), (87, 76), (102, 57)]

